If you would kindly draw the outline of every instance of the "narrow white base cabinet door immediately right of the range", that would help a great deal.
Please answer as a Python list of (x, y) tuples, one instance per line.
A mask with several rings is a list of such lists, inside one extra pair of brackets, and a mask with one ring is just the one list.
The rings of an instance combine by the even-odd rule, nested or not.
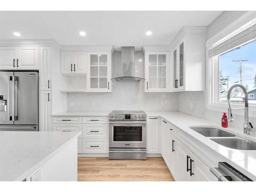
[(147, 135), (147, 153), (149, 154), (158, 154), (158, 133), (159, 133), (159, 118), (158, 117), (148, 117), (147, 118), (147, 128), (146, 128), (146, 135)]

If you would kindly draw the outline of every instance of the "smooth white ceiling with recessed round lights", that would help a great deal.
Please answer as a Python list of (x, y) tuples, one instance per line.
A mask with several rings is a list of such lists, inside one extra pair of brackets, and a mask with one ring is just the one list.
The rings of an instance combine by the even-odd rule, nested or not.
[[(183, 26), (208, 26), (222, 11), (0, 11), (0, 39), (60, 45), (168, 45)], [(146, 36), (146, 31), (152, 31)], [(13, 35), (19, 32), (20, 37)], [(85, 31), (81, 37), (79, 31)]]

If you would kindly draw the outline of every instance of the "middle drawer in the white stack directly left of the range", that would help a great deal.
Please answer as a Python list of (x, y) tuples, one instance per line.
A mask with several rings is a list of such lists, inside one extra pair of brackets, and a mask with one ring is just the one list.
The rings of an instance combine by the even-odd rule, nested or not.
[(108, 124), (83, 124), (82, 138), (108, 138)]

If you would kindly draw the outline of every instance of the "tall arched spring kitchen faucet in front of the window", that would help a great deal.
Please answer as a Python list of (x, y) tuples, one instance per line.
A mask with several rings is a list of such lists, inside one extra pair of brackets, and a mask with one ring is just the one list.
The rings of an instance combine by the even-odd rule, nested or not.
[[(244, 92), (244, 96), (245, 96), (245, 106), (244, 108), (233, 108), (231, 109), (231, 105), (230, 105), (230, 94), (231, 94), (231, 91), (236, 88), (236, 87), (239, 87), (243, 90)], [(244, 109), (244, 133), (245, 134), (248, 134), (250, 135), (250, 132), (251, 132), (251, 129), (253, 128), (251, 123), (249, 122), (249, 115), (248, 115), (248, 112), (249, 112), (249, 108), (248, 108), (248, 94), (247, 94), (247, 91), (245, 89), (244, 86), (242, 86), (242, 84), (234, 84), (233, 86), (231, 86), (228, 90), (228, 93), (227, 93), (227, 100), (228, 100), (228, 121), (229, 122), (232, 122), (234, 121), (233, 117), (232, 117), (232, 110), (241, 110), (241, 109)]]

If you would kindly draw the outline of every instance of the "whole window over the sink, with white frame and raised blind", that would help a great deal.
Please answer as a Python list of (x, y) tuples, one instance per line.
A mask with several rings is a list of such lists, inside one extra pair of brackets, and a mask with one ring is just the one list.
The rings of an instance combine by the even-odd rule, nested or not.
[[(256, 18), (208, 48), (207, 103), (208, 106), (227, 105), (227, 92), (233, 84), (242, 84), (254, 103), (256, 90)], [(206, 42), (207, 43), (207, 42)], [(250, 94), (250, 96), (249, 96)], [(244, 94), (240, 88), (231, 93), (231, 101), (242, 105)], [(256, 109), (256, 108), (255, 108)]]

